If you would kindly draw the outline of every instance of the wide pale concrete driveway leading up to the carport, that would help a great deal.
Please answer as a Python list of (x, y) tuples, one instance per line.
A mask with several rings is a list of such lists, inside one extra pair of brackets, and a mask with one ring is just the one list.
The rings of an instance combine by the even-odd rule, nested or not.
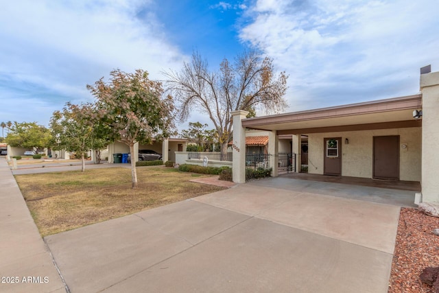
[(263, 181), (45, 241), (71, 292), (388, 291), (399, 206)]

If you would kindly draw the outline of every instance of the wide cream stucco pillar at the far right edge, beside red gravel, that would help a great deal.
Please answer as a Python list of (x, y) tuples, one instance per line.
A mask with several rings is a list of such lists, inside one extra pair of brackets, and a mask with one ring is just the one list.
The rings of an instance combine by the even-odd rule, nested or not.
[(422, 201), (439, 202), (439, 72), (420, 75), (423, 93)]

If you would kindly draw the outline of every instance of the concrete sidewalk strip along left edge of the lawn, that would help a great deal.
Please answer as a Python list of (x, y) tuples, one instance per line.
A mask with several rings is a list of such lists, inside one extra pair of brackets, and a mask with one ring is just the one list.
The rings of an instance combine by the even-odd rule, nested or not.
[(0, 292), (66, 292), (3, 158), (0, 158), (0, 277)]

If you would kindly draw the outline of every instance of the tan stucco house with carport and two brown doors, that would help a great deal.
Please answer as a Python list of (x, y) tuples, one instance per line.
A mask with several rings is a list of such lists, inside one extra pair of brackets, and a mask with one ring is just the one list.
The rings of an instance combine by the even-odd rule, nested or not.
[[(424, 201), (439, 201), (439, 72), (422, 74), (420, 89), (417, 95), (248, 119), (246, 111), (235, 111), (234, 180), (245, 180), (237, 150), (244, 149), (246, 129), (257, 129), (268, 132), (269, 154), (280, 152), (276, 141), (285, 137), (299, 158), (307, 145), (309, 173), (417, 181)], [(296, 159), (297, 172), (300, 163)], [(277, 164), (272, 167), (277, 176)]]

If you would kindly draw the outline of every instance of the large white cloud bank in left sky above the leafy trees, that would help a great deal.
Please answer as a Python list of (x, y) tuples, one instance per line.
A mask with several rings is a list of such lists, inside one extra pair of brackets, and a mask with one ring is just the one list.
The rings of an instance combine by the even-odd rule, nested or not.
[(70, 96), (86, 94), (87, 83), (115, 68), (161, 78), (185, 56), (154, 15), (137, 17), (150, 2), (8, 2), (0, 10), (0, 73)]

